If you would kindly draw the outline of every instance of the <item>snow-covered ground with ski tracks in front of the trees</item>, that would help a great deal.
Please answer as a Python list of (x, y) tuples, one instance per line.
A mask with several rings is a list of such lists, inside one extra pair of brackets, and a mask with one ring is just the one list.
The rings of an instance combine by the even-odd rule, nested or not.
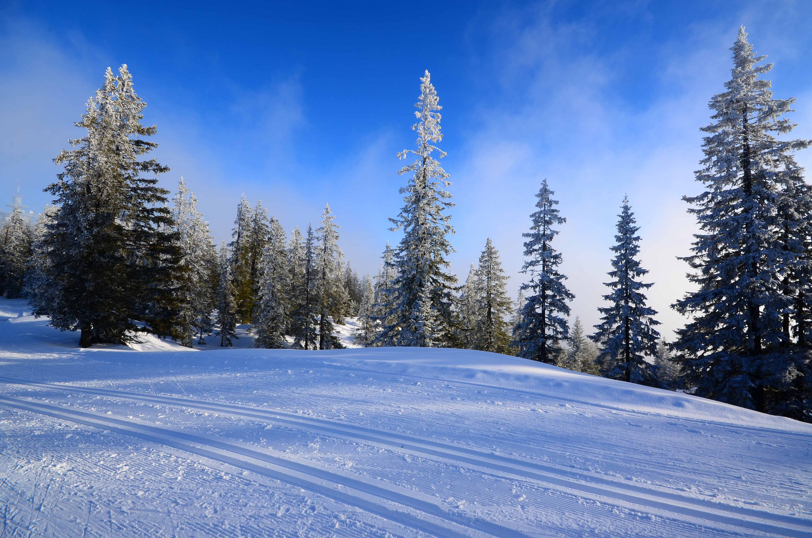
[(0, 300), (0, 536), (812, 536), (812, 426), (449, 349), (78, 349)]

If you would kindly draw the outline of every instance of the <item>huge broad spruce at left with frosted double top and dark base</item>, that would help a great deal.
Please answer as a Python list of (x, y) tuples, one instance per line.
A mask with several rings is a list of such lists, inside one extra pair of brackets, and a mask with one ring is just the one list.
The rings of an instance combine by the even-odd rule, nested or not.
[(52, 301), (33, 304), (33, 312), (50, 315), (60, 330), (80, 330), (83, 347), (137, 341), (134, 332), (162, 332), (175, 315), (171, 275), (179, 256), (168, 191), (157, 185), (168, 168), (139, 160), (156, 147), (143, 138), (156, 132), (140, 124), (145, 106), (127, 66), (119, 76), (108, 68), (76, 124), (87, 134), (54, 159), (64, 171), (45, 189), (58, 207), (45, 232), (52, 246), (45, 276)]

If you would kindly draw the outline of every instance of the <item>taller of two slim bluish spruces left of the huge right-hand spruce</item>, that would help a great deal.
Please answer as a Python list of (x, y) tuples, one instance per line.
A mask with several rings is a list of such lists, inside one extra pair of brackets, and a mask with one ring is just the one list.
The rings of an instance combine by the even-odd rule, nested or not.
[(542, 181), (539, 189), (538, 211), (530, 215), (533, 223), (530, 232), (523, 233), (525, 257), (529, 258), (522, 266), (521, 272), (530, 275), (530, 281), (521, 284), (521, 290), (529, 292), (521, 312), (521, 321), (513, 328), (514, 345), (519, 349), (519, 356), (535, 361), (555, 364), (559, 356), (559, 342), (568, 337), (567, 320), (569, 315), (567, 301), (575, 298), (564, 285), (566, 276), (558, 267), (561, 254), (552, 247), (552, 241), (558, 230), (554, 227), (567, 222), (555, 209), (558, 200), (552, 196), (547, 180)]

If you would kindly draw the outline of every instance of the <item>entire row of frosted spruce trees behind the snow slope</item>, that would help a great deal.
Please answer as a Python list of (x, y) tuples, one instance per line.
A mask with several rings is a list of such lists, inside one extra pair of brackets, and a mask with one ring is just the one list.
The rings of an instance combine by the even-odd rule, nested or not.
[(783, 138), (795, 127), (794, 99), (773, 98), (762, 63), (740, 29), (732, 77), (711, 98), (705, 157), (686, 196), (698, 219), (683, 258), (697, 290), (672, 308), (689, 322), (670, 343), (646, 305), (648, 273), (639, 227), (624, 198), (611, 247), (600, 322), (587, 335), (559, 271), (555, 236), (566, 219), (547, 180), (536, 194), (525, 237), (526, 281), (513, 302), (499, 252), (488, 239), (464, 283), (450, 272), (449, 176), (440, 166), (441, 106), (429, 72), (421, 78), (414, 150), (400, 174), (404, 206), (391, 220), (402, 232), (378, 274), (359, 278), (343, 259), (339, 227), (326, 206), (317, 229), (292, 230), (243, 197), (231, 241), (215, 247), (197, 200), (181, 179), (158, 187), (168, 170), (145, 157), (155, 127), (140, 124), (145, 103), (127, 66), (105, 83), (76, 125), (86, 131), (55, 160), (64, 167), (46, 189), (55, 196), (31, 229), (15, 212), (0, 230), (0, 285), (28, 297), (35, 315), (80, 331), (80, 345), (132, 343), (139, 332), (183, 345), (231, 345), (249, 323), (254, 345), (334, 349), (334, 324), (357, 317), (356, 344), (438, 346), (516, 354), (572, 370), (681, 389), (737, 406), (812, 417), (812, 192), (793, 158), (810, 141)]

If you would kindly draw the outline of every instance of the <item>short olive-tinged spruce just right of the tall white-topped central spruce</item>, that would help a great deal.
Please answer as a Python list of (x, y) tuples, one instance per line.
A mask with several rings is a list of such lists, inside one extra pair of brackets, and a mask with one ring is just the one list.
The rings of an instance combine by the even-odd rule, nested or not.
[(479, 257), (477, 274), (481, 288), (477, 297), (479, 315), (475, 326), (475, 349), (508, 354), (511, 344), (505, 319), (511, 313), (512, 302), (505, 289), (508, 277), (499, 262), (499, 251), (494, 248), (490, 237)]

